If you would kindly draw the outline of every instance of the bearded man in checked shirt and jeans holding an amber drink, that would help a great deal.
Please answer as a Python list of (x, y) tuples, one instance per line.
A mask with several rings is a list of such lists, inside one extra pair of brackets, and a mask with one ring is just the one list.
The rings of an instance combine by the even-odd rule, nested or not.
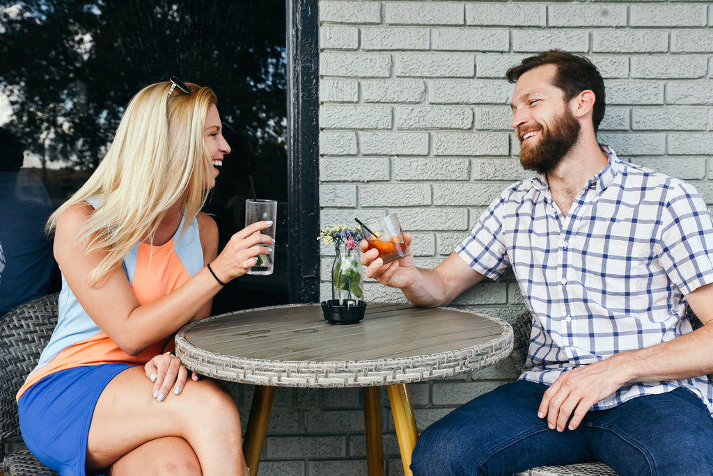
[[(713, 221), (682, 180), (597, 143), (604, 84), (586, 58), (546, 51), (508, 70), (520, 162), (436, 269), (361, 242), (366, 276), (421, 306), (512, 267), (533, 315), (515, 383), (424, 430), (414, 475), (511, 475), (601, 460), (620, 475), (713, 474)], [(406, 236), (410, 242), (410, 235)], [(685, 296), (685, 297), (684, 297)]]

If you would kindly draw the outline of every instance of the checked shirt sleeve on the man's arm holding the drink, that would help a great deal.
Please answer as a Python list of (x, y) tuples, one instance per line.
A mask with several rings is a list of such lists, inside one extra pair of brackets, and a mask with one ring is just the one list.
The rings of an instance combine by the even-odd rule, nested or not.
[(468, 266), (495, 281), (499, 281), (511, 266), (507, 247), (503, 241), (506, 194), (507, 192), (503, 192), (491, 202), (471, 233), (455, 250)]

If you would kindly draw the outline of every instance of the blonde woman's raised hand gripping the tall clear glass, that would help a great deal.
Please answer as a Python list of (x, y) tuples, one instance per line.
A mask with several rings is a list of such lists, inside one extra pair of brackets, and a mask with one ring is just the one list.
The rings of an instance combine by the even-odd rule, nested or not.
[[(275, 246), (275, 240), (270, 235), (260, 233), (260, 230), (272, 227), (272, 222), (255, 222), (230, 237), (225, 248), (210, 264), (213, 272), (221, 281), (227, 282), (247, 273), (257, 264), (258, 254), (269, 254)], [(265, 243), (268, 247), (256, 246)]]

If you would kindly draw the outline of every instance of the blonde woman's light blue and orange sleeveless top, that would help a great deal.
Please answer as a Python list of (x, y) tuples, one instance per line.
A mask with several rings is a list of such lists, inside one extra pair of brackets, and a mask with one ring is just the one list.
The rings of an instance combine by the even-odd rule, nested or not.
[[(89, 202), (96, 208), (96, 202)], [(178, 289), (202, 269), (198, 220), (193, 219), (181, 235), (183, 224), (184, 219), (181, 219), (175, 234), (165, 244), (152, 246), (139, 243), (124, 257), (123, 269), (142, 306)], [(57, 326), (17, 398), (41, 378), (66, 368), (113, 362), (143, 365), (170, 349), (173, 349), (173, 336), (153, 344), (137, 356), (129, 356), (84, 311), (62, 275)]]

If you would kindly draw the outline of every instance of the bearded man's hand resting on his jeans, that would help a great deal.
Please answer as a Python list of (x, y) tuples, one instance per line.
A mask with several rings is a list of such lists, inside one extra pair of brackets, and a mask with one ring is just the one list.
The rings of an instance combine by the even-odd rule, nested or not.
[(560, 375), (545, 391), (538, 417), (546, 416), (551, 430), (564, 431), (571, 416), (567, 428), (575, 430), (595, 403), (612, 395), (627, 382), (616, 362), (617, 356), (621, 355), (573, 368)]

